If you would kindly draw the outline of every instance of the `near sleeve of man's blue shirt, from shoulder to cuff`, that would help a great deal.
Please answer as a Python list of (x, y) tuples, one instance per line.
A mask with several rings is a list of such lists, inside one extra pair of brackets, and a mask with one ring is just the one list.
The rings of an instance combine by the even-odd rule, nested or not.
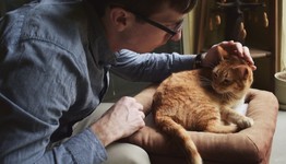
[(53, 44), (24, 40), (20, 45), (0, 47), (0, 163), (105, 161), (105, 148), (90, 129), (48, 149), (60, 117), (79, 96), (82, 68)]

